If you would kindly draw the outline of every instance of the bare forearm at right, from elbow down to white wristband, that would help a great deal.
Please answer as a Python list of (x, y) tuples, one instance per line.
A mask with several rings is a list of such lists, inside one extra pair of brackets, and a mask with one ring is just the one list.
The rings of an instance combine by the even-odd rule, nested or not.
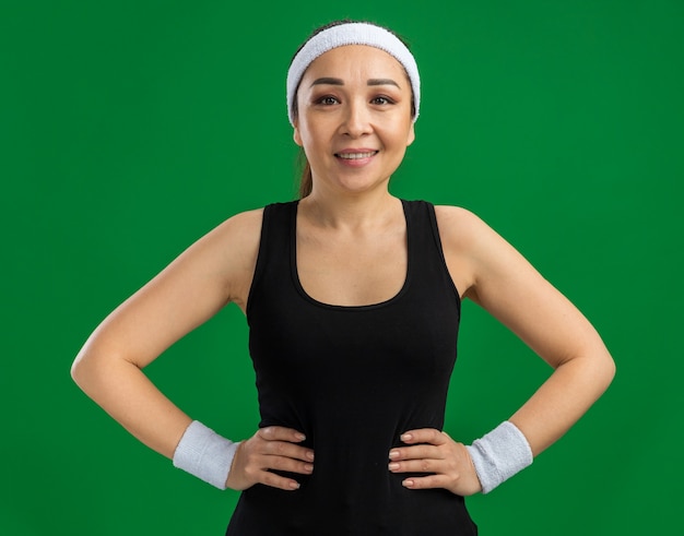
[(608, 389), (615, 365), (608, 350), (559, 365), (510, 418), (536, 456), (559, 439)]

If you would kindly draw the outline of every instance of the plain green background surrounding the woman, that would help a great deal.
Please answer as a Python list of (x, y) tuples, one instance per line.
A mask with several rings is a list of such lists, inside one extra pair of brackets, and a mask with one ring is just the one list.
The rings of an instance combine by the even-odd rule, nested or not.
[[(237, 493), (138, 443), (69, 368), (97, 323), (193, 240), (293, 198), (286, 68), (315, 26), (343, 16), (397, 29), (421, 67), (417, 138), (393, 191), (481, 215), (617, 362), (563, 440), (469, 500), (481, 534), (679, 534), (677, 0), (3, 0), (0, 534), (223, 534)], [(149, 372), (194, 418), (247, 437), (258, 413), (246, 336), (229, 307)], [(447, 430), (463, 441), (549, 373), (472, 303), (459, 353)]]

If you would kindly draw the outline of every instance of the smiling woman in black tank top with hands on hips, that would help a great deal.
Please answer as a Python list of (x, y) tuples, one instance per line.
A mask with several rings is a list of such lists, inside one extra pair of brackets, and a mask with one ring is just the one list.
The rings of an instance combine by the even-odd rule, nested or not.
[[(238, 214), (115, 310), (76, 357), (78, 384), (142, 442), (244, 490), (227, 534), (476, 534), (488, 492), (601, 395), (614, 364), (582, 314), (472, 213), (392, 196), (420, 78), (389, 31), (333, 23), (287, 76), (302, 199)], [(462, 299), (553, 368), (471, 445), (445, 431)], [(250, 327), (261, 422), (232, 442), (142, 369), (236, 303)]]

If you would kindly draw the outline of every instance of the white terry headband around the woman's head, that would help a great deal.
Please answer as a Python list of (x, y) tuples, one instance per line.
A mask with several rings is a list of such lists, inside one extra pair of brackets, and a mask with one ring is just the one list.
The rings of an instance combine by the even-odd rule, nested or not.
[(322, 53), (345, 45), (367, 45), (379, 48), (393, 56), (403, 65), (406, 74), (409, 74), (411, 88), (413, 90), (413, 106), (415, 108), (413, 120), (415, 121), (418, 118), (421, 104), (421, 78), (418, 76), (418, 67), (413, 55), (391, 32), (375, 24), (355, 22), (331, 26), (316, 34), (292, 60), (287, 71), (287, 116), (293, 127), (295, 121), (294, 99), (296, 98), (297, 87), (302, 76), (304, 76), (304, 72)]

